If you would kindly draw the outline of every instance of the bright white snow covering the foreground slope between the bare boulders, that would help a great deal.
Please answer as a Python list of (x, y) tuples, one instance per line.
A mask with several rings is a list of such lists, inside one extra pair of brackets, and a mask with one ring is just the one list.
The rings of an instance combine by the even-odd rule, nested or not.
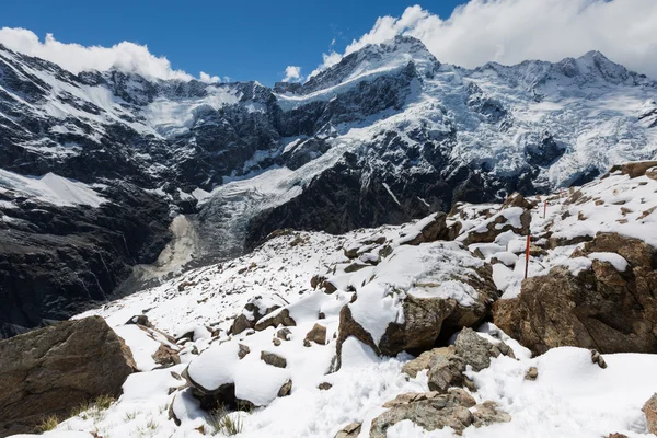
[[(627, 262), (616, 253), (576, 253), (598, 232), (638, 238), (657, 247), (657, 166), (644, 173), (635, 176), (615, 171), (583, 187), (528, 197), (527, 204), (460, 204), (446, 222), (449, 229), (457, 230), (453, 242), (408, 245), (426, 232), (433, 216), (338, 235), (279, 232), (250, 254), (191, 270), (159, 287), (81, 314), (77, 318), (105, 318), (131, 348), (137, 348), (137, 362), (145, 372), (126, 381), (124, 395), (106, 412), (78, 415), (57, 430), (65, 434), (62, 437), (68, 437), (66, 430), (97, 430), (104, 437), (211, 434), (208, 414), (198, 407), (189, 389), (176, 390), (182, 381), (172, 379), (170, 372), (182, 373), (187, 364), (196, 364), (188, 372), (199, 376), (197, 379), (212, 384), (212, 379), (234, 376), (235, 391), (264, 406), (229, 414), (234, 419), (242, 418), (240, 437), (333, 437), (354, 422), (362, 424), (360, 434), (354, 437), (367, 437), (371, 420), (385, 412), (383, 403), (402, 393), (429, 390), (427, 373), (420, 371), (414, 378), (403, 374), (402, 367), (412, 359), (406, 353), (379, 357), (356, 337), (341, 344), (336, 335), (345, 330), (341, 327), (345, 307), (349, 306), (354, 318), (373, 337), (379, 337), (374, 335), (380, 332), (378, 326), (384, 328), (404, 318), (400, 300), (406, 295), (453, 298), (472, 306), (481, 290), (464, 288), (461, 278), (484, 263), (493, 263), (493, 280), (503, 293), (500, 299), (514, 298), (525, 275), (526, 237), (520, 231), (520, 205), (533, 205), (529, 210), (529, 232), (533, 237), (530, 277), (545, 276), (558, 266), (575, 273), (590, 267), (593, 260), (610, 262), (614, 269), (623, 272)], [(496, 220), (497, 217), (504, 220)], [(497, 226), (489, 227), (491, 223)], [(506, 223), (510, 228), (503, 231)], [(475, 241), (473, 233), (486, 230), (494, 233), (489, 242), (468, 244)], [(250, 302), (255, 308), (249, 310)], [(277, 321), (269, 326), (256, 325), (255, 331), (234, 333), (235, 318), (253, 320), (256, 312), (263, 314), (274, 306), (283, 306), (295, 324), (277, 320), (279, 309), (268, 316)], [(151, 371), (153, 364), (148, 351), (154, 353), (157, 344), (143, 331), (125, 325), (142, 313), (159, 330), (181, 339), (182, 365)], [(266, 320), (267, 316), (261, 321)], [(315, 324), (326, 327), (325, 345), (304, 342)], [(280, 335), (281, 327), (288, 333)], [(591, 364), (586, 349), (562, 347), (532, 358), (529, 350), (499, 334), (494, 325), (484, 323), (479, 331), (486, 339), (503, 339), (516, 358), (499, 356), (492, 359), (489, 368), (466, 371), (477, 388), (472, 396), (477, 403), (495, 402), (511, 419), (468, 427), (462, 436), (652, 436), (641, 407), (657, 385), (653, 372), (657, 367), (655, 355), (604, 355), (607, 368), (601, 369)], [(230, 365), (232, 349), (242, 351), (239, 346), (247, 348), (249, 360)], [(338, 348), (342, 364), (335, 371)], [(283, 357), (286, 366), (265, 366), (260, 360), (262, 351)], [(262, 367), (272, 372), (264, 372)], [(539, 370), (535, 381), (526, 379), (531, 367)], [(291, 394), (269, 397), (272, 385), (277, 390), (286, 379), (293, 382)], [(320, 384), (322, 389), (318, 388)], [(267, 400), (263, 402), (263, 397)], [(176, 425), (172, 417), (181, 423)], [(388, 436), (457, 435), (449, 427), (427, 431), (403, 420), (388, 429)]]

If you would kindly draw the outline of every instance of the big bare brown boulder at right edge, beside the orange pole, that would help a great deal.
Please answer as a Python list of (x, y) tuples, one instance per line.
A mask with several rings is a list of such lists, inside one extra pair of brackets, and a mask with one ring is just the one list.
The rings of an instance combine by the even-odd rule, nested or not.
[(598, 233), (581, 254), (612, 252), (619, 272), (593, 260), (577, 276), (566, 267), (522, 283), (521, 293), (494, 304), (494, 323), (535, 354), (558, 346), (600, 353), (657, 353), (657, 252), (637, 239)]

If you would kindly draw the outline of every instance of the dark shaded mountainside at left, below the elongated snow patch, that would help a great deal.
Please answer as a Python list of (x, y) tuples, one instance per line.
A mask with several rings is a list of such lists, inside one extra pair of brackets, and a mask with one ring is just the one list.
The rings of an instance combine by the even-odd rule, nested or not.
[(0, 338), (108, 299), (171, 237), (166, 204), (129, 185), (106, 188), (112, 203), (97, 208), (3, 196), (14, 203), (0, 203)]

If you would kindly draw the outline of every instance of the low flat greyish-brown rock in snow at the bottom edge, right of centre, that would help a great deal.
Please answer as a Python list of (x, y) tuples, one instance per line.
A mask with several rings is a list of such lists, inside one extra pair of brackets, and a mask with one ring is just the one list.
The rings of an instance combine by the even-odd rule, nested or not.
[(497, 410), (495, 403), (484, 402), (477, 405), (476, 401), (461, 389), (452, 389), (446, 394), (401, 394), (383, 407), (390, 410), (372, 420), (371, 438), (385, 438), (390, 427), (405, 419), (429, 431), (451, 427), (459, 435), (469, 426), (482, 427), (511, 419), (507, 413)]

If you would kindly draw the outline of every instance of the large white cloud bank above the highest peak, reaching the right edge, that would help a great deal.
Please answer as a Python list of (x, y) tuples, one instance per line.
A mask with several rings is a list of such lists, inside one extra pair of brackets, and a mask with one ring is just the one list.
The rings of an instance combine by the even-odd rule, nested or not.
[[(655, 0), (471, 0), (445, 20), (418, 5), (399, 18), (379, 18), (343, 56), (405, 34), (423, 41), (440, 61), (468, 68), (599, 50), (657, 79), (656, 28)], [(324, 55), (319, 70), (335, 59)]]

